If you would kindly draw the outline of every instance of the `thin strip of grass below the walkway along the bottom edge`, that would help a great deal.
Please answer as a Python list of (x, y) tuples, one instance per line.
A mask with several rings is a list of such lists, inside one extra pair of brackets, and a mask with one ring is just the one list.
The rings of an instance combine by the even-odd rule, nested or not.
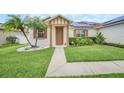
[(111, 73), (111, 74), (100, 74), (100, 75), (80, 75), (80, 76), (62, 76), (62, 77), (51, 77), (51, 78), (124, 78), (124, 73)]

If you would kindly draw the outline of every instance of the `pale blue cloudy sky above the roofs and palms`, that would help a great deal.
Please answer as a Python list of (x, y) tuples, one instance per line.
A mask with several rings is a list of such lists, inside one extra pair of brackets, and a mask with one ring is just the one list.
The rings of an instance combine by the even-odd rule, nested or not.
[[(57, 14), (19, 14), (21, 18), (26, 16), (40, 16), (46, 18), (48, 16), (54, 16)], [(72, 21), (90, 21), (90, 22), (106, 22), (116, 17), (122, 16), (123, 14), (62, 14)], [(4, 23), (8, 19), (8, 14), (0, 14), (0, 23)]]

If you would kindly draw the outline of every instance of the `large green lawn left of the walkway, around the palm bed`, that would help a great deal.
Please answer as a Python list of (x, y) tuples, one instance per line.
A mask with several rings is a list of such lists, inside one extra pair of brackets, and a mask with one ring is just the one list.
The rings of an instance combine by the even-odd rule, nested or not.
[(0, 77), (45, 77), (54, 48), (34, 52), (16, 52), (24, 45), (0, 46)]

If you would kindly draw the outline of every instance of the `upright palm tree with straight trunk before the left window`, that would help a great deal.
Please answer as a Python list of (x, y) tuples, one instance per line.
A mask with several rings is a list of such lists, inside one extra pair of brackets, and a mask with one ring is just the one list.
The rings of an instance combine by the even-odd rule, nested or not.
[(33, 18), (28, 17), (25, 20), (25, 25), (36, 31), (35, 47), (37, 47), (38, 32), (39, 31), (46, 31), (47, 24), (40, 17), (33, 17)]

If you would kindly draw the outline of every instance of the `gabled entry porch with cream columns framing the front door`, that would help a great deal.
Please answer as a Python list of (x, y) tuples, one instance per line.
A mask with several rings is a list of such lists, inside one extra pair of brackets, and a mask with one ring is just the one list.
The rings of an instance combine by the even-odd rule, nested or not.
[(50, 47), (69, 46), (69, 24), (70, 20), (61, 15), (47, 19), (48, 40)]

